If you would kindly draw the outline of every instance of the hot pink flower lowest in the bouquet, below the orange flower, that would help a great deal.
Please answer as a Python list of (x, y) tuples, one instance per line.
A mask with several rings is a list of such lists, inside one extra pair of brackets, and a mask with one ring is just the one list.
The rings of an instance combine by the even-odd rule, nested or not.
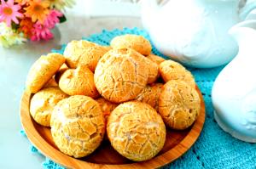
[(52, 32), (49, 31), (49, 28), (39, 24), (38, 22), (33, 25), (32, 28), (32, 41), (40, 41), (41, 39), (49, 40), (53, 38)]

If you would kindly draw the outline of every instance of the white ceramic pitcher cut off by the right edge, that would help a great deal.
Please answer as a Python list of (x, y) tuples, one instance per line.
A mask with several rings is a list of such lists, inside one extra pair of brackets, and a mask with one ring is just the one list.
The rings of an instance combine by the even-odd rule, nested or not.
[(230, 34), (239, 52), (212, 87), (214, 116), (224, 131), (256, 143), (256, 20), (234, 26)]

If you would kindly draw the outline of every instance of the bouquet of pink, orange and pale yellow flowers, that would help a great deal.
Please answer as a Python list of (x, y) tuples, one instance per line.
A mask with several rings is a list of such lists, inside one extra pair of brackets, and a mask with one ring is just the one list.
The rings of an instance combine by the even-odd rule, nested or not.
[(74, 0), (1, 0), (0, 45), (53, 38), (51, 30), (66, 21), (63, 12), (73, 4)]

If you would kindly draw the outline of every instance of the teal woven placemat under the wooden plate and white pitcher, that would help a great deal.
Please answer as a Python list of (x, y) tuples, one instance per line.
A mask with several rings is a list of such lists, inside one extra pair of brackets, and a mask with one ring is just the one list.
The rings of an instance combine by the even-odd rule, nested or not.
[[(150, 40), (148, 34), (138, 28), (106, 31), (94, 34), (83, 39), (102, 45), (109, 45), (113, 37), (123, 34), (142, 35)], [(61, 50), (53, 52), (63, 53), (65, 45)], [(153, 53), (162, 56), (154, 47)], [(189, 69), (195, 76), (195, 82), (201, 89), (206, 104), (206, 121), (201, 136), (189, 151), (172, 164), (164, 168), (245, 168), (256, 169), (256, 144), (248, 144), (232, 138), (230, 134), (223, 132), (213, 118), (211, 101), (212, 84), (223, 67), (214, 69)], [(33, 152), (38, 150), (32, 147)], [(46, 159), (43, 163), (45, 169), (61, 169), (55, 162)]]

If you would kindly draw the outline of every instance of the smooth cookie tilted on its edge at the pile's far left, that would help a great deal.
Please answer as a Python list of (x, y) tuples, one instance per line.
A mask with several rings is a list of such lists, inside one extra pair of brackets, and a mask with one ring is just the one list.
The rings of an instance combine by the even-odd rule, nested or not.
[(26, 88), (31, 93), (37, 93), (55, 75), (64, 62), (65, 58), (61, 54), (41, 56), (28, 72)]

